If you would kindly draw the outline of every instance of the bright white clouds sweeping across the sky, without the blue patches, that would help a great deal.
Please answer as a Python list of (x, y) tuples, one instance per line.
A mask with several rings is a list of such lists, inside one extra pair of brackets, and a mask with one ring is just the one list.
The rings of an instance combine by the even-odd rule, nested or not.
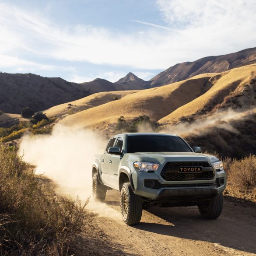
[[(0, 55), (9, 56), (7, 65), (17, 69), (54, 68), (25, 60), (24, 56), (32, 56), (49, 62), (81, 61), (153, 70), (255, 47), (253, 0), (158, 0), (157, 4), (168, 25), (179, 33), (151, 23), (144, 33), (131, 34), (90, 25), (60, 27), (40, 10), (28, 12), (1, 3)], [(112, 81), (120, 78), (120, 74), (111, 72), (104, 75)]]

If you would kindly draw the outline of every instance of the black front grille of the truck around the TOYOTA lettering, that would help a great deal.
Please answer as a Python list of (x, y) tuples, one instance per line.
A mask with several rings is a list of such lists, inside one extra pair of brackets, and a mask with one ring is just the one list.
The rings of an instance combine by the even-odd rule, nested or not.
[[(201, 166), (202, 172), (179, 172), (179, 167)], [(161, 172), (165, 180), (207, 180), (214, 178), (209, 162), (168, 162)]]

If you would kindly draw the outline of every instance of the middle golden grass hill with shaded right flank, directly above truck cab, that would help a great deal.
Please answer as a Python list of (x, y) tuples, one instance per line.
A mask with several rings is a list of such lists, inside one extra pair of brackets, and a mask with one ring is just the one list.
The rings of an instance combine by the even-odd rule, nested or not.
[(212, 85), (208, 81), (214, 75), (198, 75), (174, 84), (137, 91), (119, 100), (69, 115), (60, 123), (67, 126), (92, 127), (102, 130), (109, 124), (116, 123), (120, 116), (132, 119), (140, 115), (147, 115), (157, 121), (207, 91)]

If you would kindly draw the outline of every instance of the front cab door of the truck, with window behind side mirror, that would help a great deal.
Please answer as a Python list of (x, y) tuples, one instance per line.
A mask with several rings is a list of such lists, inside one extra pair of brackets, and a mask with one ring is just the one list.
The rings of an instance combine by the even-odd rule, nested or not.
[[(120, 147), (121, 152), (123, 150), (123, 138), (118, 137), (114, 147)], [(123, 155), (111, 154), (109, 159), (109, 184), (115, 189), (119, 189), (118, 171), (122, 157)]]

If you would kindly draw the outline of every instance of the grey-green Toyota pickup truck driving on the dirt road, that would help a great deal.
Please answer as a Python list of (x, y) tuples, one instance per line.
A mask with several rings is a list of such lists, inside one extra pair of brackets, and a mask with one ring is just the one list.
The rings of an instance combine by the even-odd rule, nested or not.
[(104, 201), (107, 190), (119, 190), (127, 225), (139, 223), (142, 210), (151, 206), (196, 205), (203, 217), (216, 219), (226, 174), (217, 157), (201, 152), (176, 135), (118, 134), (93, 160), (93, 198)]

